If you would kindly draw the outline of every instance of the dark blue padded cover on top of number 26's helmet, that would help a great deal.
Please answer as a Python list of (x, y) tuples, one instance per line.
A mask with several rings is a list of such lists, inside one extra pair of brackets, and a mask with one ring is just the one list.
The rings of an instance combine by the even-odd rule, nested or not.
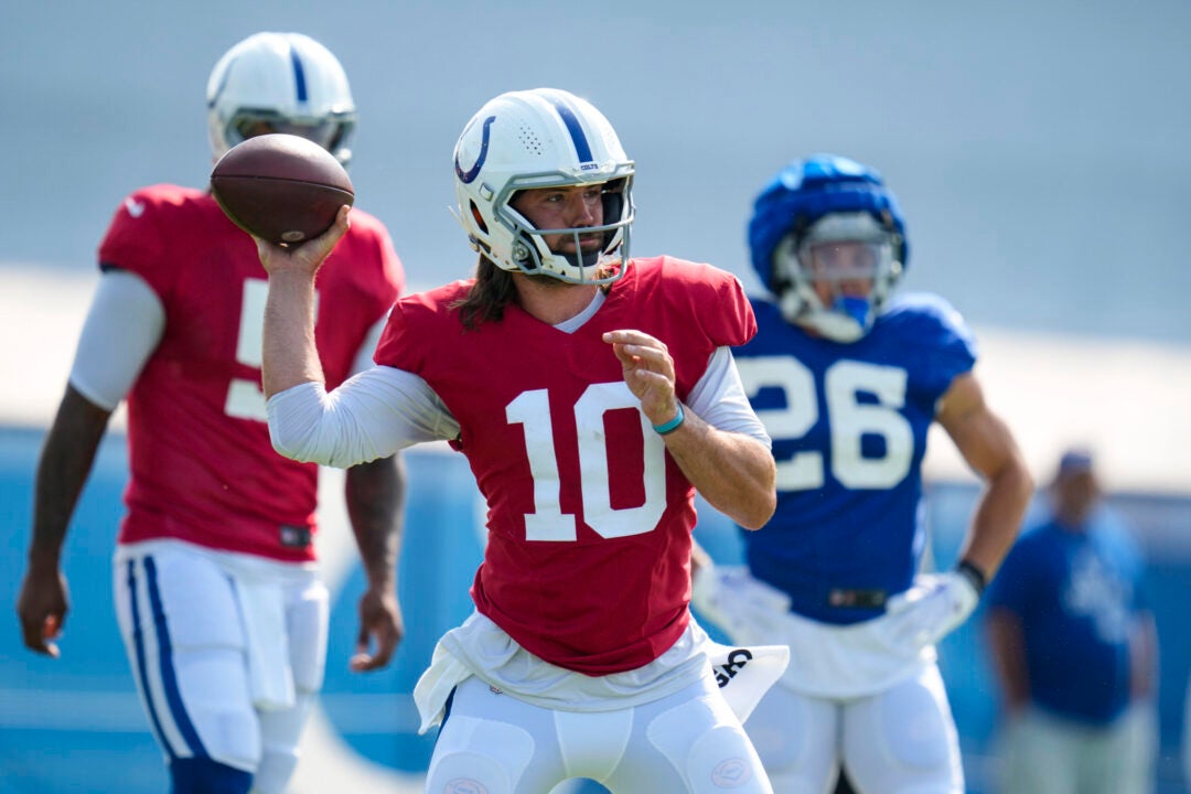
[(896, 236), (893, 254), (904, 270), (910, 255), (905, 220), (881, 175), (847, 157), (812, 155), (782, 168), (753, 202), (748, 244), (761, 282), (780, 292), (773, 279), (773, 251), (781, 239), (802, 235), (833, 212), (869, 212)]

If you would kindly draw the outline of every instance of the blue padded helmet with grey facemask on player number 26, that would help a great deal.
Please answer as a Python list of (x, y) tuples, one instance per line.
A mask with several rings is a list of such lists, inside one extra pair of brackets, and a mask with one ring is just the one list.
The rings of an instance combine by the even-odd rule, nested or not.
[[(781, 169), (753, 205), (748, 242), (782, 315), (836, 342), (868, 332), (909, 256), (905, 221), (880, 174), (835, 155)], [(871, 288), (842, 286), (858, 280)], [(817, 282), (831, 285), (830, 300)]]

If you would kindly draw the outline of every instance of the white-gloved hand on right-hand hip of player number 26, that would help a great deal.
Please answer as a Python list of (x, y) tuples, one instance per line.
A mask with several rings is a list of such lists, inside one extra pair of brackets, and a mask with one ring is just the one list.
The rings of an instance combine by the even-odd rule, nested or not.
[(919, 574), (910, 589), (890, 599), (885, 613), (893, 640), (918, 650), (934, 645), (967, 620), (979, 600), (980, 594), (964, 574)]

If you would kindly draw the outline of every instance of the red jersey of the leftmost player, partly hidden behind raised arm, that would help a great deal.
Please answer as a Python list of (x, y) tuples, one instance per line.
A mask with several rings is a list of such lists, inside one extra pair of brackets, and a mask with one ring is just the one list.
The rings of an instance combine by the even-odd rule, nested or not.
[[(102, 269), (144, 279), (166, 327), (127, 395), (127, 514), (119, 540), (179, 538), (282, 561), (314, 557), (318, 468), (269, 442), (261, 390), (267, 276), (251, 237), (208, 193), (137, 190), (99, 248)], [(404, 286), (388, 232), (355, 210), (318, 274), (316, 339), (343, 381)]]

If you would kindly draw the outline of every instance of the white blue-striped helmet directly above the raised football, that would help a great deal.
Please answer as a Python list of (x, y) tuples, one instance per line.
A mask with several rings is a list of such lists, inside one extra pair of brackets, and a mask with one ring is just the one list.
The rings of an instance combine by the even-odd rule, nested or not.
[(325, 46), (301, 33), (256, 33), (212, 69), (207, 123), (216, 160), (245, 138), (288, 132), (347, 165), (356, 105), (347, 73)]

